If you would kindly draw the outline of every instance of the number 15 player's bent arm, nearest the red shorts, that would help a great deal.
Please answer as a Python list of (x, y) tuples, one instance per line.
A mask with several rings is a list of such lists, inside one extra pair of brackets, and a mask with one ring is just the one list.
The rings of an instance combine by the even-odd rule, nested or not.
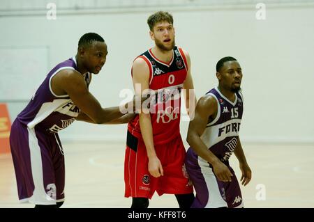
[(186, 141), (193, 150), (213, 166), (215, 175), (218, 180), (227, 182), (231, 181), (232, 173), (205, 145), (200, 138), (206, 129), (207, 122), (215, 113), (217, 113), (217, 102), (214, 97), (204, 95), (197, 102), (195, 117), (190, 121), (188, 126), (188, 137)]

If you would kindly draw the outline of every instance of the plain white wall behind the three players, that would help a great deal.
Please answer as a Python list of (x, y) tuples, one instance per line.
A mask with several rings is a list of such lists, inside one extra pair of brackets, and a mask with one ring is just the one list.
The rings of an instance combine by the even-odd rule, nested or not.
[[(192, 59), (197, 97), (217, 85), (215, 67), (220, 58), (234, 56), (241, 64), (245, 103), (242, 141), (314, 143), (313, 7), (267, 8), (266, 20), (255, 18), (255, 7), (170, 12), (177, 45), (189, 51)], [(57, 15), (56, 20), (1, 17), (0, 47), (49, 47), (49, 68), (53, 68), (75, 54), (82, 34), (99, 33), (109, 54), (90, 90), (103, 106), (115, 106), (121, 101), (119, 91), (132, 88), (133, 59), (154, 45), (146, 24), (151, 13)], [(43, 77), (46, 74), (43, 72)], [(22, 106), (9, 103), (11, 118)], [(182, 122), (184, 139), (187, 126), (188, 122)], [(75, 122), (60, 136), (63, 140), (123, 140), (126, 125)]]

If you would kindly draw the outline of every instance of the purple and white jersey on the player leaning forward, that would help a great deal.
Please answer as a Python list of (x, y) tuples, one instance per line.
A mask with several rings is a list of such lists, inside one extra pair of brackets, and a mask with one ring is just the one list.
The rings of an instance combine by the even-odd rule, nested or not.
[[(17, 116), (17, 120), (29, 129), (59, 132), (70, 125), (79, 115), (80, 109), (73, 104), (68, 95), (55, 95), (51, 88), (51, 79), (60, 70), (76, 70), (75, 57), (56, 65), (39, 86), (27, 107)], [(89, 86), (91, 74), (83, 74)]]

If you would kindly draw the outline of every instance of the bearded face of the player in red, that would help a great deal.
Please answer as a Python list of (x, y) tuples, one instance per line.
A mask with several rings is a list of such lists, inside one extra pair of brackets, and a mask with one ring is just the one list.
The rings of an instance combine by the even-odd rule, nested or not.
[(170, 51), (174, 48), (174, 27), (169, 22), (158, 22), (149, 33), (156, 46), (162, 51)]

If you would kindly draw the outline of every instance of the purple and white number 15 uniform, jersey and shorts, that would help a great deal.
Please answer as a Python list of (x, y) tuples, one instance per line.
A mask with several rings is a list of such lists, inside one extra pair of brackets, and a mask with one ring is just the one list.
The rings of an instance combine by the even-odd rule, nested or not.
[(238, 143), (243, 97), (240, 92), (235, 93), (235, 100), (231, 102), (220, 93), (218, 88), (211, 89), (207, 95), (216, 99), (218, 111), (216, 118), (207, 124), (201, 139), (207, 148), (230, 169), (233, 176), (231, 182), (218, 180), (211, 164), (189, 148), (186, 170), (196, 191), (192, 207), (243, 207), (239, 183), (228, 161)]

